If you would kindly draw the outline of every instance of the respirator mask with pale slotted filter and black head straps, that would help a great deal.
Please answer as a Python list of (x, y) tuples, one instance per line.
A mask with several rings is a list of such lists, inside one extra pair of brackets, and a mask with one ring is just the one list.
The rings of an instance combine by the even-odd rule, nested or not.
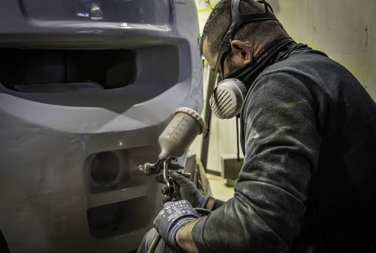
[[(264, 4), (265, 12), (241, 14), (239, 11), (240, 0), (233, 0), (231, 3), (232, 23), (222, 40), (217, 56), (217, 62), (215, 65), (215, 75), (218, 73), (219, 69), (221, 70), (220, 82), (217, 84), (217, 87), (213, 89), (210, 99), (211, 111), (219, 119), (231, 119), (238, 115), (243, 105), (244, 98), (247, 94), (247, 87), (239, 79), (223, 79), (223, 64), (227, 54), (231, 50), (231, 41), (234, 39), (235, 31), (239, 28), (239, 26), (243, 24), (265, 20), (277, 20), (269, 3), (267, 3), (265, 0), (258, 2)], [(256, 61), (256, 63), (257, 62), (258, 60)]]

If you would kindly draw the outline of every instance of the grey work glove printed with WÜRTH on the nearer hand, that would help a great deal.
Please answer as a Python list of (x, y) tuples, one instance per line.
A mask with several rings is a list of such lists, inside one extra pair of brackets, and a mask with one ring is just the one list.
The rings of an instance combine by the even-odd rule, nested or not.
[(176, 233), (183, 224), (197, 218), (198, 213), (188, 201), (166, 202), (153, 225), (169, 246), (180, 249), (176, 241)]

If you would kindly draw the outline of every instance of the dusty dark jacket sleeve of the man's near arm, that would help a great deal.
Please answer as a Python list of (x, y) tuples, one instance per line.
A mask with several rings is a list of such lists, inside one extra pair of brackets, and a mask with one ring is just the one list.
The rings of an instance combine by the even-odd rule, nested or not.
[(319, 86), (304, 76), (275, 72), (255, 81), (242, 112), (245, 159), (234, 198), (193, 227), (199, 252), (289, 252), (317, 167), (326, 107)]

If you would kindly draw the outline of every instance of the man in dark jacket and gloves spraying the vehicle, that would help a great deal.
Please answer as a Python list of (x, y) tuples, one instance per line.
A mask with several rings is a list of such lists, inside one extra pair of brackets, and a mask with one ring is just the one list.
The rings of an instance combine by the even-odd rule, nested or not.
[[(231, 4), (215, 6), (200, 40), (213, 70), (232, 24)], [(265, 6), (241, 0), (239, 11)], [(366, 252), (375, 228), (375, 102), (348, 70), (296, 44), (276, 20), (242, 25), (230, 43), (219, 74), (247, 90), (234, 198), (205, 197), (171, 173), (184, 200), (213, 212), (197, 219), (186, 202), (167, 202), (155, 220), (164, 239), (157, 250)]]

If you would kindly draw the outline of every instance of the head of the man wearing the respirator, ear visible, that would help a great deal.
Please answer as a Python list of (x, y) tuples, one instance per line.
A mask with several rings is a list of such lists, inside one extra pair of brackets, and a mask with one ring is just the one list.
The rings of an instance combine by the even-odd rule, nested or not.
[[(231, 25), (231, 2), (221, 0), (212, 10), (200, 38), (200, 52), (214, 70), (221, 42)], [(254, 0), (241, 0), (239, 11), (242, 14), (265, 11), (263, 4)], [(283, 26), (275, 20), (259, 21), (241, 25), (236, 31), (231, 49), (223, 66), (223, 76), (253, 61), (269, 43), (287, 36)]]

